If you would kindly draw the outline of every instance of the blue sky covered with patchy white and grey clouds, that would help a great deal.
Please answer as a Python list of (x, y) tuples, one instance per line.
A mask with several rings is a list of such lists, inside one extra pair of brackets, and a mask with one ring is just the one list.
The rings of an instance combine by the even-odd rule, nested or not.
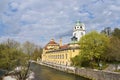
[(120, 0), (0, 0), (0, 42), (69, 43), (78, 20), (86, 32), (120, 28)]

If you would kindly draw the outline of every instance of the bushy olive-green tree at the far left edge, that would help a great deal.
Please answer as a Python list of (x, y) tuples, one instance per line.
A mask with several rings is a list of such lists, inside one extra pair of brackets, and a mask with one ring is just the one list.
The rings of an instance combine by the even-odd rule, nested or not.
[(16, 67), (22, 54), (19, 54), (18, 45), (18, 42), (10, 39), (0, 44), (0, 68), (9, 71)]

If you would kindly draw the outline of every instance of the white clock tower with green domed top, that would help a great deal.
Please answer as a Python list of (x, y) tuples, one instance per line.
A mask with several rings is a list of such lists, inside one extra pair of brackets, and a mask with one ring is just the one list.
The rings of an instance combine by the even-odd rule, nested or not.
[(73, 37), (75, 37), (76, 40), (79, 41), (83, 35), (85, 35), (85, 25), (80, 21), (77, 21), (73, 29)]

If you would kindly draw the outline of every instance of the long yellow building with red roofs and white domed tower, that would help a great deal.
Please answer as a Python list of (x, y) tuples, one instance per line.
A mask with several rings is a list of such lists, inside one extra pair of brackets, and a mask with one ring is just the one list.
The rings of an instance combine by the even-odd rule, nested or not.
[(54, 39), (51, 39), (43, 48), (42, 62), (70, 66), (71, 58), (79, 54), (80, 47), (78, 41), (83, 35), (85, 35), (85, 25), (77, 22), (73, 29), (71, 43), (62, 45), (62, 40), (56, 43)]

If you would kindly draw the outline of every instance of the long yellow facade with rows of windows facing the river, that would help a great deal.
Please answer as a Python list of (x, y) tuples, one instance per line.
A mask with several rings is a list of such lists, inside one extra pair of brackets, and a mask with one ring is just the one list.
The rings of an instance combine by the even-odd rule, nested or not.
[(42, 54), (42, 61), (49, 64), (71, 65), (71, 58), (79, 54), (79, 49), (67, 49), (45, 52)]

